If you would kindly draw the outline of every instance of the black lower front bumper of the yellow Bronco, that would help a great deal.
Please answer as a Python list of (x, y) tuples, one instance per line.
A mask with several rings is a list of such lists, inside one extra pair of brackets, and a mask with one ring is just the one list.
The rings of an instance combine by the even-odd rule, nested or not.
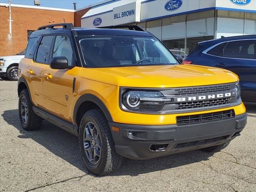
[[(240, 135), (246, 122), (244, 113), (227, 120), (186, 126), (115, 122), (109, 122), (109, 126), (116, 152), (126, 158), (142, 160), (223, 144)], [(112, 126), (119, 128), (119, 132), (113, 131)]]

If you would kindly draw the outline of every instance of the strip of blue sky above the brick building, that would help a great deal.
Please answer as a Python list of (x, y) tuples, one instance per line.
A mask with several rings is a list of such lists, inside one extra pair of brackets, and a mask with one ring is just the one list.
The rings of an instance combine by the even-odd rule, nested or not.
[[(104, 0), (40, 0), (42, 7), (54, 7), (64, 9), (74, 9), (73, 3), (76, 3), (76, 9), (86, 7), (90, 4), (96, 4)], [(1, 3), (8, 3), (8, 0), (0, 0)], [(12, 4), (34, 5), (34, 0), (12, 0)]]

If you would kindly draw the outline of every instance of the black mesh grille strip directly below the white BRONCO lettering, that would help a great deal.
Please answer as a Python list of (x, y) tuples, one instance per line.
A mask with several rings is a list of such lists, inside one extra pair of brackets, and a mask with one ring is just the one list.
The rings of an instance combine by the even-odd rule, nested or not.
[(175, 109), (192, 109), (192, 108), (200, 108), (200, 107), (218, 106), (218, 105), (224, 105), (224, 104), (230, 104), (230, 98), (177, 103)]

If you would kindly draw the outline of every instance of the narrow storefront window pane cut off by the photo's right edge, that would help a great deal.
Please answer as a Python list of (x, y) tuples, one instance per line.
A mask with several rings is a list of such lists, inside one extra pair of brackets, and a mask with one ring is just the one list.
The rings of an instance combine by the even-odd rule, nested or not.
[(244, 34), (256, 34), (256, 13), (245, 13)]

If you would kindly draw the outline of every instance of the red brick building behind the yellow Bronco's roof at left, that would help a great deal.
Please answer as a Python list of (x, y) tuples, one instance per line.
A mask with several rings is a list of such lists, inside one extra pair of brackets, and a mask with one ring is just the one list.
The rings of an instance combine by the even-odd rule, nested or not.
[(26, 48), (28, 36), (38, 27), (55, 23), (81, 26), (81, 17), (90, 7), (78, 10), (40, 6), (11, 5), (12, 35), (9, 34), (9, 6), (0, 4), (0, 56), (13, 55)]

